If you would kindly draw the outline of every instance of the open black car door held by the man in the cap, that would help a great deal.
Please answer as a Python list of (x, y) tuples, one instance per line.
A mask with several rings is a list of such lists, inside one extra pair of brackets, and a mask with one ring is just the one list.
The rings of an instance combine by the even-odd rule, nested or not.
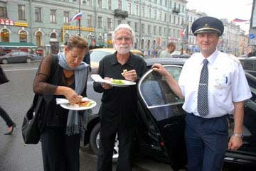
[[(164, 67), (178, 80), (181, 66), (165, 65)], [(169, 158), (173, 170), (180, 169), (186, 165), (184, 142), (186, 113), (182, 109), (183, 100), (178, 99), (169, 88), (166, 79), (153, 70), (146, 72), (139, 80), (137, 90), (139, 117), (142, 118), (149, 132), (148, 136), (158, 137), (159, 146)]]

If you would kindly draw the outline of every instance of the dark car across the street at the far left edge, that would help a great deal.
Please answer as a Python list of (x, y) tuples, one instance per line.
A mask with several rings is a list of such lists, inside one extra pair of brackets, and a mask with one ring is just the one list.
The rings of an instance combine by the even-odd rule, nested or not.
[(30, 63), (32, 60), (35, 60), (35, 56), (33, 54), (26, 53), (23, 51), (13, 51), (11, 53), (7, 53), (4, 56), (0, 56), (0, 62), (2, 64), (7, 64), (11, 62)]

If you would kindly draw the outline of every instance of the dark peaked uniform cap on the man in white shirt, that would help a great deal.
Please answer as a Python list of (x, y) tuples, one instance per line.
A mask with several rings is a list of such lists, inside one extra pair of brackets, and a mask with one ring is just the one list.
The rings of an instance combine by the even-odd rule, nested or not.
[(222, 35), (224, 31), (223, 22), (217, 18), (204, 16), (198, 18), (193, 22), (192, 33), (196, 35), (197, 33), (218, 33), (218, 35)]

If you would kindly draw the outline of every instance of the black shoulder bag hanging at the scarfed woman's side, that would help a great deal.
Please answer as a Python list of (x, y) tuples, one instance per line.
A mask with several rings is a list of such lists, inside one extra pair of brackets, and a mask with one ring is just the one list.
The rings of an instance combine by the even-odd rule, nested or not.
[[(53, 65), (51, 67), (50, 77), (53, 76), (57, 65), (58, 57), (53, 56)], [(24, 143), (37, 144), (39, 142), (43, 127), (45, 125), (42, 126), (42, 124), (39, 123), (38, 118), (45, 117), (45, 106), (46, 101), (43, 99), (43, 96), (41, 94), (35, 94), (33, 97), (33, 104), (31, 108), (26, 112), (26, 116), (23, 118), (21, 132)]]

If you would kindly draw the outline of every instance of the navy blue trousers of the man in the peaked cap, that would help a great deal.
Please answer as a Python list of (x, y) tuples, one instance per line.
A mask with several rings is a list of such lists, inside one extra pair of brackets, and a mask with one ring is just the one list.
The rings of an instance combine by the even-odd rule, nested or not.
[(186, 115), (188, 171), (220, 171), (228, 143), (227, 116), (201, 118)]

